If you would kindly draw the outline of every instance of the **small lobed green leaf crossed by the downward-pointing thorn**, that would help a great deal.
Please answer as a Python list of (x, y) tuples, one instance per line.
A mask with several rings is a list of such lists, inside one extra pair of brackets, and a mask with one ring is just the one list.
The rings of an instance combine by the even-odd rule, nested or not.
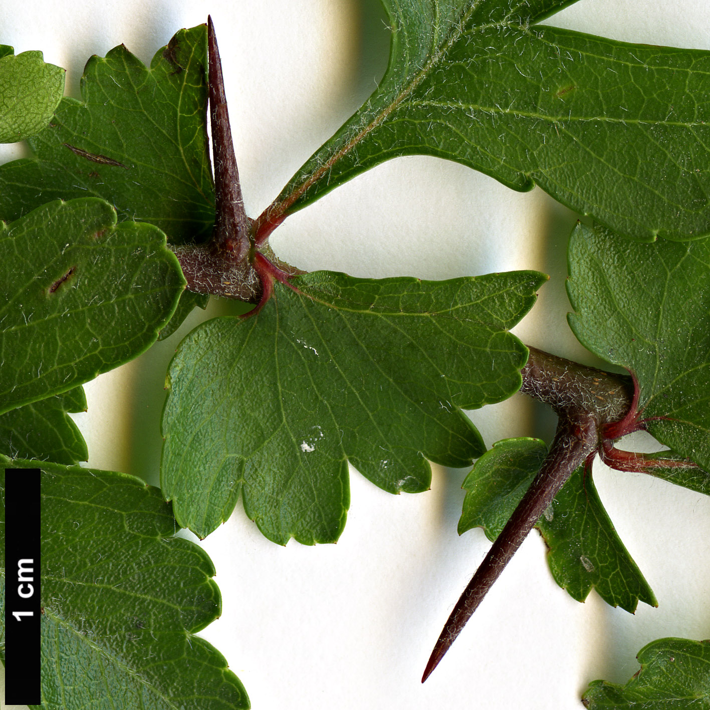
[[(464, 480), (459, 534), (481, 526), (495, 540), (530, 487), (547, 455), (540, 439), (493, 444)], [(653, 592), (623, 546), (604, 510), (591, 471), (579, 468), (557, 493), (537, 530), (547, 545), (552, 577), (577, 601), (594, 587), (611, 604), (633, 613), (638, 601), (657, 606)]]

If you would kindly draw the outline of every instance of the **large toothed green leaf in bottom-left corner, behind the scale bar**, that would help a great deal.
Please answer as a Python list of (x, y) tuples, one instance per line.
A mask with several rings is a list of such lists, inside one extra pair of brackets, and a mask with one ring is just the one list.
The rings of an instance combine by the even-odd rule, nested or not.
[[(36, 461), (0, 461), (26, 468)], [(207, 553), (175, 534), (140, 479), (42, 464), (45, 710), (248, 708), (239, 679), (193, 635), (219, 616)], [(4, 491), (3, 491), (4, 496)]]

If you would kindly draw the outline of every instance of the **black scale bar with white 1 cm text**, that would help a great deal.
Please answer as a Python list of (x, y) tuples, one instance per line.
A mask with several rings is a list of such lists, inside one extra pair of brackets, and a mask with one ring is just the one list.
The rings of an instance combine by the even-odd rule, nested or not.
[(40, 469), (5, 469), (5, 703), (39, 705)]

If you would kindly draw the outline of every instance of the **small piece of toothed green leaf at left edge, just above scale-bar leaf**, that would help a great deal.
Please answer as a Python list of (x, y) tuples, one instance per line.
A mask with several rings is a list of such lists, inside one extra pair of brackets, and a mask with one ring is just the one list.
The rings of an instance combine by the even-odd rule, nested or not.
[(15, 459), (77, 464), (89, 458), (87, 444), (67, 412), (84, 412), (84, 390), (76, 387), (0, 415), (0, 452)]

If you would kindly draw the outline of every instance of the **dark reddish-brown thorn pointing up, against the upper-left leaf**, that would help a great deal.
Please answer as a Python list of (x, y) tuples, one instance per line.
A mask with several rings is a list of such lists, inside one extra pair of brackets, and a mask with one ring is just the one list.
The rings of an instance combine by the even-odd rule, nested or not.
[(244, 200), (241, 197), (239, 171), (236, 169), (229, 112), (224, 94), (222, 62), (219, 59), (211, 17), (207, 18), (207, 57), (216, 212), (213, 239), (220, 249), (231, 251), (235, 261), (242, 261), (249, 253), (250, 220), (244, 211)]

